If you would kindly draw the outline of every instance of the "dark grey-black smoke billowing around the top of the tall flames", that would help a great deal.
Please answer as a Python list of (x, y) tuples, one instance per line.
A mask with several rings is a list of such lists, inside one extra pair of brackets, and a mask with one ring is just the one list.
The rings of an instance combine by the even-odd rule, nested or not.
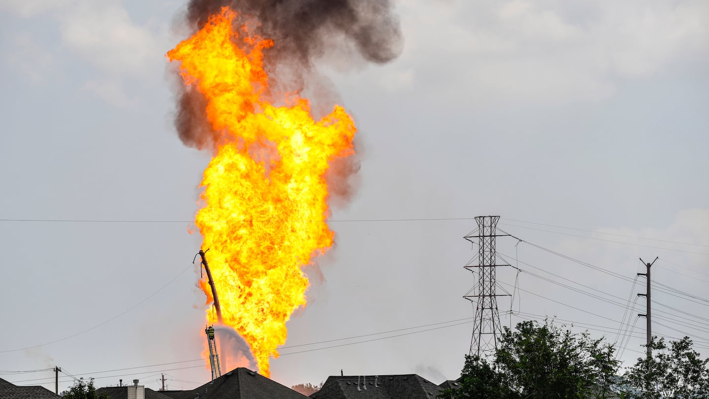
[[(252, 34), (274, 40), (274, 47), (264, 50), (270, 94), (307, 92), (315, 111), (331, 110), (337, 98), (318, 62), (337, 57), (339, 65), (382, 64), (403, 48), (393, 0), (191, 0), (182, 23), (197, 31), (224, 6), (236, 11), (236, 23)], [(206, 121), (206, 100), (194, 89), (178, 87), (174, 122), (180, 139), (187, 146), (212, 148), (220, 134)]]

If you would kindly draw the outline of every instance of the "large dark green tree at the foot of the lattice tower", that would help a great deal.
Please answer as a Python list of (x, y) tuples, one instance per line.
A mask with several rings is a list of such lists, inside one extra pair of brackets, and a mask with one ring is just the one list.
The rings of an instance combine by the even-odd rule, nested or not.
[(450, 399), (615, 398), (620, 361), (615, 349), (588, 333), (574, 334), (551, 322), (505, 327), (492, 364), (467, 357), (460, 388)]

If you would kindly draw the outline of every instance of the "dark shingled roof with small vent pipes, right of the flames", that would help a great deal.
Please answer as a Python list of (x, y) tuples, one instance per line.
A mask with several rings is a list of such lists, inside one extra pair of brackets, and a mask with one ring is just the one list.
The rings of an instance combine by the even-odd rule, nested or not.
[[(357, 381), (359, 380), (359, 384)], [(364, 384), (367, 381), (367, 384)], [(364, 387), (367, 389), (364, 389)], [(359, 388), (359, 389), (358, 389)], [(440, 386), (416, 374), (389, 376), (330, 376), (313, 399), (432, 399)]]

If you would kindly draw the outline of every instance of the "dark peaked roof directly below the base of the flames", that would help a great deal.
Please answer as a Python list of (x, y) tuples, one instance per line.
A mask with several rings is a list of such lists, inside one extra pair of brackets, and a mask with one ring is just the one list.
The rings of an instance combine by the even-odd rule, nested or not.
[[(162, 392), (172, 399), (303, 399), (295, 390), (245, 367), (235, 368), (193, 390)], [(113, 398), (111, 398), (113, 399)]]

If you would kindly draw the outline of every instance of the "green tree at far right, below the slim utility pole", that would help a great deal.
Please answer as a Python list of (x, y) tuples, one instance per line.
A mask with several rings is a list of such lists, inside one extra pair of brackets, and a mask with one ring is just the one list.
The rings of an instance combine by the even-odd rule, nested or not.
[(628, 398), (709, 399), (709, 359), (700, 359), (689, 337), (665, 343), (652, 338), (652, 356), (642, 356), (625, 373)]

